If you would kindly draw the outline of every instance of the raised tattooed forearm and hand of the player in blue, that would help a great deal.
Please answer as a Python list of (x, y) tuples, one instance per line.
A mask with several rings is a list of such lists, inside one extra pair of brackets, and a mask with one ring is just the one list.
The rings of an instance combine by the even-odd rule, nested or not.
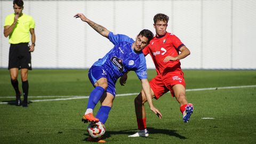
[(90, 25), (95, 31), (97, 31), (99, 34), (101, 34), (104, 37), (108, 38), (108, 34), (109, 34), (109, 30), (106, 29), (105, 27), (98, 25), (97, 23), (89, 20), (88, 18), (86, 18), (84, 16), (83, 13), (77, 13), (76, 15), (74, 15), (75, 18), (80, 18), (82, 21), (87, 22), (88, 25)]

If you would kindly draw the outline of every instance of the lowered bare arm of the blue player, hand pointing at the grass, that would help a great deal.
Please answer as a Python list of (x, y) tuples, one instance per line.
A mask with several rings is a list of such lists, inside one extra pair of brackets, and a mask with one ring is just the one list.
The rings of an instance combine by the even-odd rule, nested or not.
[(161, 119), (162, 114), (153, 105), (153, 101), (152, 101), (152, 98), (151, 98), (151, 90), (150, 90), (150, 85), (148, 83), (148, 79), (141, 79), (141, 84), (142, 84), (142, 89), (145, 92), (150, 110), (153, 111)]

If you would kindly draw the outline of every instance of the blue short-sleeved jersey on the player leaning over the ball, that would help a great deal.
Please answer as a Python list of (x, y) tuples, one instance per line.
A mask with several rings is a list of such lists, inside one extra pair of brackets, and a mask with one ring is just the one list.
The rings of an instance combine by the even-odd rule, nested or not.
[(135, 71), (139, 79), (147, 78), (146, 59), (142, 52), (135, 53), (132, 49), (133, 39), (126, 35), (108, 35), (109, 41), (115, 46), (93, 66), (102, 66), (111, 79), (116, 82), (127, 71)]

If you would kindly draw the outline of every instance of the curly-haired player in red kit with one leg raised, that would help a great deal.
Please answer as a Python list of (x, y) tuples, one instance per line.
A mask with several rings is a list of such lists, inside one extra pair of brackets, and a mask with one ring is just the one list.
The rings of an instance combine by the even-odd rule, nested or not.
[[(194, 108), (192, 103), (188, 103), (186, 99), (186, 83), (180, 67), (180, 59), (186, 58), (190, 51), (177, 36), (167, 33), (168, 20), (169, 17), (165, 14), (158, 13), (155, 15), (154, 28), (156, 36), (143, 49), (145, 56), (150, 54), (157, 72), (157, 76), (149, 82), (151, 97), (159, 99), (163, 94), (171, 91), (172, 97), (175, 97), (180, 103), (183, 122), (187, 123)], [(120, 83), (124, 84), (126, 78), (122, 77)], [(129, 135), (129, 137), (148, 137), (144, 107), (146, 101), (145, 93), (142, 90), (134, 100), (139, 131)]]

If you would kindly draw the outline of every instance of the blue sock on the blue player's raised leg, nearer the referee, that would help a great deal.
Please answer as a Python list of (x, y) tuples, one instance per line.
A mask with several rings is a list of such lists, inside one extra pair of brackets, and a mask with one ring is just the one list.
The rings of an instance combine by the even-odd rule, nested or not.
[(94, 90), (92, 90), (92, 92), (90, 93), (88, 104), (87, 104), (87, 109), (88, 108), (94, 109), (94, 107), (97, 105), (97, 103), (99, 102), (99, 100), (104, 92), (105, 92), (105, 90), (103, 89), (103, 87), (96, 86), (94, 88)]

